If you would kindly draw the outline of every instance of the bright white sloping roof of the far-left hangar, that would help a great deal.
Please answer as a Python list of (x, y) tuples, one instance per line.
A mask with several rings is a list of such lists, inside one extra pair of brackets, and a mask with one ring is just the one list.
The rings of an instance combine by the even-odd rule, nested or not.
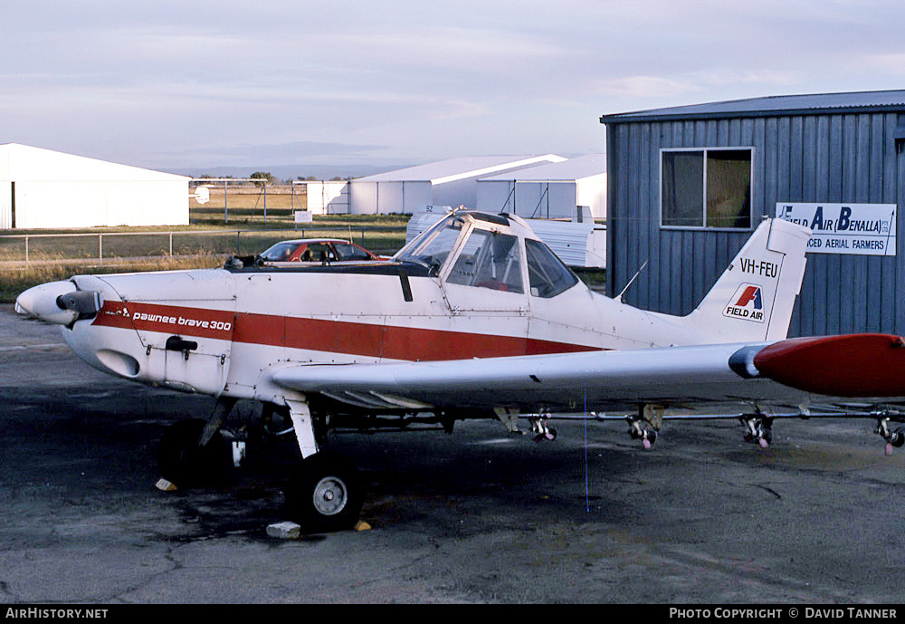
[(119, 165), (106, 160), (33, 148), (19, 143), (0, 144), (0, 180), (61, 181), (73, 179), (125, 181), (182, 181), (191, 178)]

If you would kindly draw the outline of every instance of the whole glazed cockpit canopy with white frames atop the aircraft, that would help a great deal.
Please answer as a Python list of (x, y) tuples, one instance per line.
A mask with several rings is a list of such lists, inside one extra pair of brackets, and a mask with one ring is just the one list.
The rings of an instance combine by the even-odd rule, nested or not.
[(457, 211), (405, 245), (394, 259), (420, 264), (446, 283), (550, 298), (578, 278), (517, 216)]

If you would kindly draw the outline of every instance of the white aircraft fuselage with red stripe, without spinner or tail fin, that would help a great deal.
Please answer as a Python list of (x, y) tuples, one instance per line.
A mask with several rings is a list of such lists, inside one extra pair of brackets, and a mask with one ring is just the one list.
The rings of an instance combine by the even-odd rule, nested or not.
[[(533, 265), (539, 241), (519, 220), (459, 221), (461, 235), (433, 267), (403, 253), (380, 263), (77, 276), (73, 283), (99, 292), (103, 305), (63, 335), (100, 370), (264, 399), (280, 391), (269, 387), (268, 373), (290, 364), (468, 360), (706, 340), (673, 317), (594, 293), (564, 266)], [(468, 246), (472, 235), (495, 243), (511, 237), (507, 274), (496, 276), (509, 283), (463, 276), (478, 279), (474, 265), (484, 262)], [(554, 268), (558, 285), (534, 274)]]

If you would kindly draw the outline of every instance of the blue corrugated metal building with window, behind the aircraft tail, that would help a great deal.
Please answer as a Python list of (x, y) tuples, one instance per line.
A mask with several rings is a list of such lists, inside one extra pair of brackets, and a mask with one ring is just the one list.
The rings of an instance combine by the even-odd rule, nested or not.
[(905, 91), (605, 115), (607, 290), (684, 314), (765, 216), (814, 230), (790, 335), (905, 332)]

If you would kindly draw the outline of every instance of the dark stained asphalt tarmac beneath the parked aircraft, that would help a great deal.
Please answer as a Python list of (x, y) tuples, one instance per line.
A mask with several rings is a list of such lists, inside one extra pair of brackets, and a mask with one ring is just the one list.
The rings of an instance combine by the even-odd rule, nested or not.
[[(81, 363), (0, 306), (0, 603), (900, 603), (905, 449), (869, 420), (622, 424), (553, 442), (473, 421), (348, 434), (370, 530), (267, 536), (291, 440), (223, 489), (155, 488), (157, 443), (210, 398)], [(254, 414), (240, 404), (233, 418)]]

